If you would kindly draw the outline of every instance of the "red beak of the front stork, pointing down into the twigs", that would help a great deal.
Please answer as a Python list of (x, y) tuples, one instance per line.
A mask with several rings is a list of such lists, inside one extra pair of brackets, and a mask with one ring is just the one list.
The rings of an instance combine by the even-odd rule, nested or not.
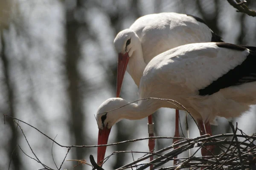
[[(109, 133), (111, 131), (111, 128), (108, 129), (107, 127), (104, 129), (99, 129), (99, 136), (98, 136), (98, 145), (99, 144), (108, 144), (108, 136)], [(106, 153), (106, 146), (100, 146), (98, 147), (98, 157), (97, 157), (97, 164), (99, 164), (99, 166), (102, 165), (103, 163), (103, 159), (105, 157), (105, 153)], [(102, 162), (101, 162), (102, 161)]]

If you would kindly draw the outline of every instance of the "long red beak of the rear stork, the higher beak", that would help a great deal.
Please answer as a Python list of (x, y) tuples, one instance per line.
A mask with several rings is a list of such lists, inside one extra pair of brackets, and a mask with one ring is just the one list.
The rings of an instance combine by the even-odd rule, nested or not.
[(118, 54), (118, 65), (117, 65), (117, 81), (116, 81), (116, 97), (120, 96), (122, 81), (125, 76), (125, 70), (129, 61), (128, 53)]

